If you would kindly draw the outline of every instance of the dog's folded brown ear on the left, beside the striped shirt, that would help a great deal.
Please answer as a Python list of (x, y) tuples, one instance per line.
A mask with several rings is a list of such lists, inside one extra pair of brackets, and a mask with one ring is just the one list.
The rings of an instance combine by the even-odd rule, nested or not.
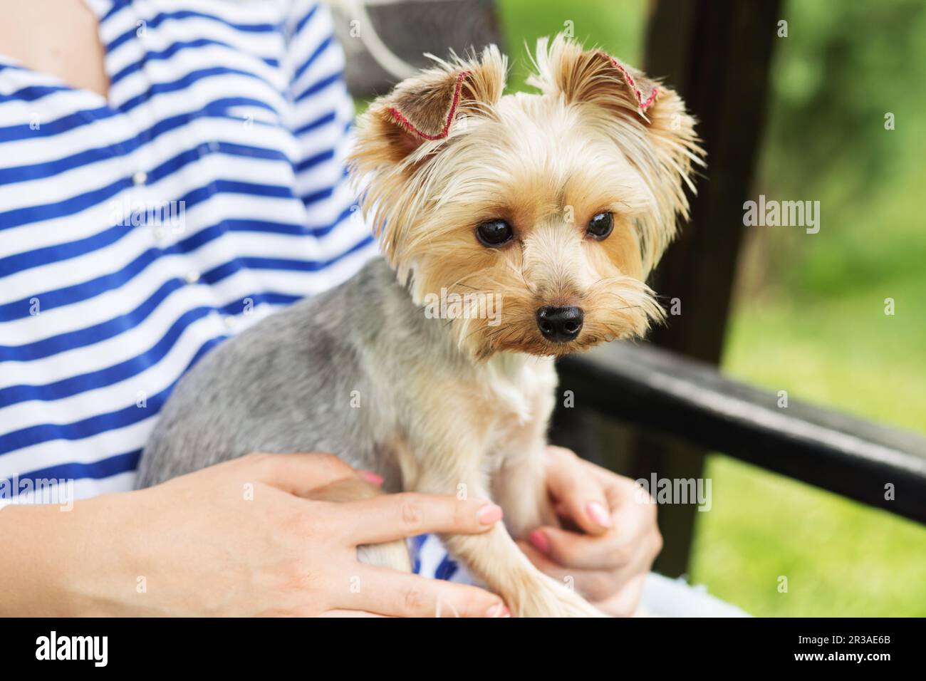
[(357, 120), (357, 170), (426, 158), (462, 132), (466, 118), (494, 116), (507, 71), (497, 47), (486, 47), (479, 58), (432, 59), (435, 67), (400, 82)]

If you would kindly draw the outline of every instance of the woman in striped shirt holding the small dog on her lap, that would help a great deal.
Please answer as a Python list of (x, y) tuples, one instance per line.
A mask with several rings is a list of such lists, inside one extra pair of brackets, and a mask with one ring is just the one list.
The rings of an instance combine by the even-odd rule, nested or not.
[[(344, 177), (353, 110), (325, 8), (0, 7), (0, 498), (20, 502), (0, 511), (18, 548), (0, 555), (0, 611), (506, 614), (475, 586), (356, 561), (361, 543), (485, 531), (501, 516), (485, 500), (309, 501), (334, 479), (375, 480), (311, 453), (130, 491), (182, 372), (375, 253)], [(661, 543), (655, 507), (566, 450), (549, 464), (581, 531), (538, 528), (525, 551), (632, 612)], [(26, 503), (49, 490), (58, 506)], [(429, 542), (421, 572), (448, 576)]]

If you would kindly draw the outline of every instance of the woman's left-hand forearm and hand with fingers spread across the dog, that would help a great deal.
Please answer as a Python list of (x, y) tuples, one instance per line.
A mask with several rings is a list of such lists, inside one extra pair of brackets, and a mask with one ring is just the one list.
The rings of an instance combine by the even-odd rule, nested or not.
[(163, 485), (0, 511), (8, 615), (505, 616), (501, 599), (357, 561), (357, 545), (477, 534), (501, 510), (452, 496), (315, 501), (358, 473), (330, 455), (253, 454)]

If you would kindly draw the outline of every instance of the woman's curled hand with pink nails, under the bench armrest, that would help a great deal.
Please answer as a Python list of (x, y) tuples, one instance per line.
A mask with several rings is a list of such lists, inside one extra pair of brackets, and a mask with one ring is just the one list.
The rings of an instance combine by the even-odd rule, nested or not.
[(546, 486), (557, 514), (577, 528), (539, 527), (519, 546), (544, 573), (575, 580), (600, 610), (631, 615), (662, 549), (656, 503), (629, 478), (582, 460), (569, 449), (546, 449)]

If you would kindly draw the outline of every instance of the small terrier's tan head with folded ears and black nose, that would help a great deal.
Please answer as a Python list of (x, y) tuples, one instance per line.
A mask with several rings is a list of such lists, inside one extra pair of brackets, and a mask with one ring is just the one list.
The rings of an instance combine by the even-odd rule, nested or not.
[(476, 359), (644, 334), (699, 162), (679, 96), (562, 36), (537, 44), (539, 94), (503, 95), (494, 46), (436, 63), (369, 107), (351, 159), (416, 303)]

